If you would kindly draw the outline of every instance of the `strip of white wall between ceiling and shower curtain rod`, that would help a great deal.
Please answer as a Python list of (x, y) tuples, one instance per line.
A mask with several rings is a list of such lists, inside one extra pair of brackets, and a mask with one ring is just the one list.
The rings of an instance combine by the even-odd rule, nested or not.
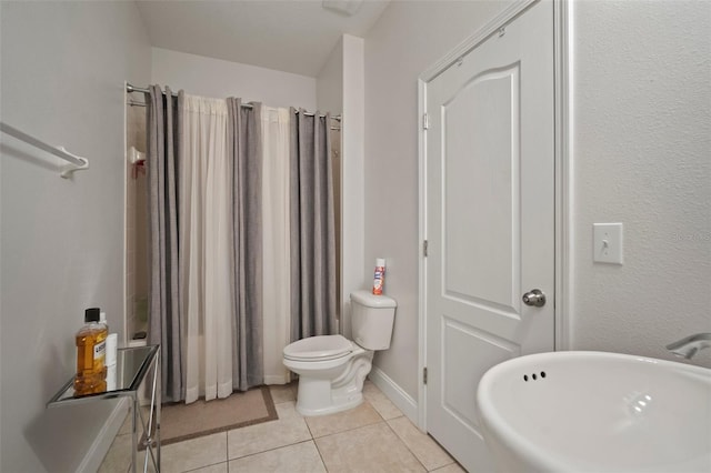
[(221, 59), (153, 48), (151, 83), (193, 95), (316, 109), (316, 79)]

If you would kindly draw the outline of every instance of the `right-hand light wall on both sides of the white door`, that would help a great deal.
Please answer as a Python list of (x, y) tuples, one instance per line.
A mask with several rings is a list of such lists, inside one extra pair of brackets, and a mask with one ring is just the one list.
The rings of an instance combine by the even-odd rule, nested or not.
[[(392, 2), (365, 37), (365, 256), (398, 300), (375, 365), (418, 399), (417, 78), (507, 2)], [(711, 2), (575, 1), (570, 348), (670, 358), (711, 332)], [(592, 263), (592, 223), (625, 264)], [(693, 362), (710, 365), (711, 353)]]

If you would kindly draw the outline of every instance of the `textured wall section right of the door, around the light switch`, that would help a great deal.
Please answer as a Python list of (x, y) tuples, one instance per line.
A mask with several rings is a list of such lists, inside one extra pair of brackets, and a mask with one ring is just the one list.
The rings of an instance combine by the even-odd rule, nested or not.
[[(711, 332), (711, 2), (580, 1), (572, 20), (572, 346), (670, 358)], [(624, 265), (592, 262), (594, 222), (624, 223)]]

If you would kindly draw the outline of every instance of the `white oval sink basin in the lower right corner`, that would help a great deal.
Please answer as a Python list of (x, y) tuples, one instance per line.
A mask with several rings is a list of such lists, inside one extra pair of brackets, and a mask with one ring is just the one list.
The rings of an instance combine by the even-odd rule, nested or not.
[(711, 472), (711, 370), (602, 352), (527, 355), (477, 391), (502, 472)]

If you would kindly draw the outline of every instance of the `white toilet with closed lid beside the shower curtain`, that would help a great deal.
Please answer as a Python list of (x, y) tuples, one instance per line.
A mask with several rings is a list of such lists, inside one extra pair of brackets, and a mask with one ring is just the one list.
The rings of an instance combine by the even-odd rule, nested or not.
[(375, 350), (390, 348), (397, 303), (369, 291), (351, 293), (353, 341), (320, 335), (284, 348), (283, 363), (299, 375), (297, 411), (324, 415), (356, 407), (363, 401), (363, 381)]

